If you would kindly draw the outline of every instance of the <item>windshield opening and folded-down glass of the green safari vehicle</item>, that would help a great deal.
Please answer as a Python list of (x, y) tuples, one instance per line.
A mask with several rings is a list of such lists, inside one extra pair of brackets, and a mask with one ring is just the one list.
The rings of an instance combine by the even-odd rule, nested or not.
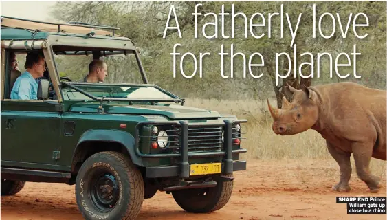
[[(176, 102), (177, 96), (155, 85), (144, 84), (140, 66), (133, 50), (88, 47), (54, 46), (54, 60), (58, 70), (64, 100), (128, 100)], [(106, 63), (105, 77), (89, 82), (89, 64), (93, 53), (102, 54)]]

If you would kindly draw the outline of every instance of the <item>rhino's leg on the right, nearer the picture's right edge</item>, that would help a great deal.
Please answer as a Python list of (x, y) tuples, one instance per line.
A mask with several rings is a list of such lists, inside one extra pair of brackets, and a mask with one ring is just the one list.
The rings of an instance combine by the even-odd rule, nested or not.
[(371, 174), (369, 165), (371, 162), (373, 147), (372, 144), (356, 142), (352, 144), (353, 159), (355, 159), (356, 172), (364, 181), (371, 192), (379, 191), (380, 178)]

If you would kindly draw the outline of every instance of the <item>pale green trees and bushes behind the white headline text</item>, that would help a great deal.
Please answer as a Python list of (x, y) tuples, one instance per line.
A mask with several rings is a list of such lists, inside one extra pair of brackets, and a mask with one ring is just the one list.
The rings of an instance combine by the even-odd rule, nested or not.
[[(195, 38), (195, 20), (192, 13), (195, 12), (195, 4), (202, 3), (199, 7), (199, 12), (202, 13), (198, 17), (198, 32), (199, 36)], [(132, 39), (138, 47), (141, 48), (142, 63), (151, 83), (155, 83), (165, 89), (172, 91), (182, 97), (201, 97), (201, 98), (217, 98), (217, 99), (236, 99), (236, 98), (265, 98), (271, 96), (273, 91), (278, 91), (279, 87), (275, 87), (274, 71), (275, 71), (275, 54), (287, 52), (293, 56), (294, 47), (290, 46), (291, 34), (288, 29), (287, 20), (285, 17), (285, 33), (284, 37), (280, 38), (280, 19), (273, 17), (271, 23), (272, 37), (267, 36), (267, 27), (255, 27), (254, 34), (265, 34), (262, 39), (254, 39), (250, 30), (247, 28), (248, 37), (245, 39), (243, 17), (239, 16), (235, 19), (235, 37), (234, 39), (223, 39), (221, 37), (221, 17), (217, 17), (219, 25), (217, 27), (218, 38), (206, 39), (203, 37), (201, 29), (208, 22), (214, 22), (213, 16), (204, 17), (203, 14), (213, 12), (219, 14), (221, 7), (224, 5), (226, 12), (231, 12), (231, 6), (234, 4), (234, 12), (243, 12), (247, 17), (247, 27), (250, 23), (250, 17), (254, 13), (261, 12), (267, 21), (267, 14), (280, 12), (280, 5), (283, 4), (284, 12), (289, 13), (291, 23), (294, 27), (298, 19), (298, 14), (302, 13), (302, 18), (294, 43), (297, 45), (298, 54), (296, 54), (298, 65), (308, 61), (309, 56), (301, 56), (304, 52), (310, 52), (315, 57), (314, 76), (317, 76), (317, 54), (327, 52), (334, 58), (341, 52), (345, 52), (351, 56), (353, 45), (356, 44), (357, 52), (362, 55), (357, 56), (357, 75), (362, 78), (353, 77), (353, 66), (341, 67), (340, 72), (351, 73), (351, 77), (338, 78), (329, 77), (329, 62), (327, 58), (323, 58), (320, 62), (320, 78), (313, 78), (312, 84), (333, 83), (338, 81), (354, 81), (369, 87), (386, 89), (386, 3), (385, 2), (340, 2), (340, 1), (309, 1), (309, 2), (288, 2), (288, 1), (265, 1), (265, 2), (197, 2), (197, 1), (87, 1), (87, 2), (58, 2), (52, 14), (57, 19), (63, 21), (81, 21), (86, 23), (98, 23), (104, 25), (118, 26), (121, 30), (117, 32), (122, 36), (127, 36)], [(316, 4), (317, 17), (325, 12), (330, 12), (336, 17), (336, 12), (340, 14), (340, 18), (344, 28), (348, 21), (349, 14), (352, 13), (352, 19), (358, 12), (363, 12), (368, 17), (369, 27), (357, 28), (360, 30), (358, 34), (368, 34), (365, 39), (357, 39), (353, 33), (352, 25), (344, 39), (342, 37), (338, 21), (336, 18), (335, 33), (330, 39), (324, 39), (320, 36), (313, 39), (313, 4)], [(175, 30), (167, 32), (167, 36), (163, 39), (164, 28), (168, 19), (170, 5), (175, 6), (178, 17), (179, 26), (181, 28), (182, 38)], [(224, 22), (225, 34), (231, 33), (231, 21), (226, 17)], [(329, 17), (324, 17), (322, 32), (329, 34), (331, 32), (332, 23)], [(256, 21), (258, 22), (258, 20)], [(364, 23), (365, 21), (359, 21)], [(170, 26), (175, 25), (175, 19), (170, 19)], [(212, 35), (215, 30), (213, 25), (207, 25), (206, 34)], [(184, 78), (180, 73), (180, 56), (177, 56), (176, 69), (177, 77), (173, 77), (173, 46), (179, 43), (177, 52), (181, 55), (186, 52), (195, 54), (199, 61), (200, 53), (210, 52), (210, 56), (203, 58), (203, 78), (199, 78), (199, 66), (197, 74), (192, 78)], [(253, 67), (254, 74), (263, 74), (261, 78), (252, 78), (248, 76), (248, 67), (246, 67), (247, 77), (243, 78), (243, 59), (241, 56), (234, 58), (234, 78), (221, 77), (221, 57), (218, 55), (221, 52), (221, 45), (224, 45), (225, 52), (230, 52), (231, 45), (234, 45), (234, 52), (241, 52), (246, 56), (246, 63), (249, 61), (251, 54), (259, 52), (263, 55), (265, 66)], [(293, 58), (293, 57), (292, 57)], [(257, 59), (254, 62), (258, 62)], [(122, 61), (123, 62), (123, 61)], [(77, 78), (84, 76), (87, 70), (78, 68), (73, 62), (63, 63), (65, 66), (63, 72), (66, 74), (74, 74)], [(68, 65), (68, 67), (67, 67)], [(85, 64), (83, 64), (85, 66)], [(87, 65), (87, 64), (86, 64)], [(122, 66), (122, 67), (121, 67)], [(129, 80), (134, 76), (124, 76), (127, 74), (124, 71), (124, 65), (120, 61), (115, 61), (114, 68), (110, 68), (109, 80), (115, 81)], [(78, 68), (78, 69), (77, 69)], [(195, 67), (192, 63), (192, 57), (186, 56), (184, 61), (184, 72), (186, 75), (192, 74)], [(278, 63), (280, 74), (287, 72), (287, 63), (280, 59)], [(294, 69), (294, 67), (293, 67)], [(225, 75), (230, 75), (230, 57), (224, 61)], [(311, 69), (303, 69), (303, 74), (308, 75)], [(334, 72), (334, 66), (333, 66)], [(81, 74), (82, 73), (82, 74)], [(293, 75), (294, 70), (291, 72)], [(135, 72), (133, 72), (135, 74)], [(343, 74), (344, 75), (344, 74)], [(291, 76), (293, 77), (293, 76)], [(300, 78), (298, 77), (298, 80)], [(273, 90), (274, 89), (274, 90)]]

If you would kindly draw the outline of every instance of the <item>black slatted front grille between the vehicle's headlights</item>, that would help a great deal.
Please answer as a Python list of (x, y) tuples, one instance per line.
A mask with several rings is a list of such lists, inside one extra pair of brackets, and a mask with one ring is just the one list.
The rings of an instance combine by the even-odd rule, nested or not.
[(188, 153), (221, 151), (222, 132), (221, 126), (188, 127)]

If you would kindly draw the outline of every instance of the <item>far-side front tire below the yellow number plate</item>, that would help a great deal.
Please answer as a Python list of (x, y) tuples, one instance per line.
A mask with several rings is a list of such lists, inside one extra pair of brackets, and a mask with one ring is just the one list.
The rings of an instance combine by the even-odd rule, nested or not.
[(233, 186), (233, 181), (217, 181), (215, 187), (177, 190), (172, 192), (172, 196), (187, 212), (209, 213), (223, 208), (228, 203)]

